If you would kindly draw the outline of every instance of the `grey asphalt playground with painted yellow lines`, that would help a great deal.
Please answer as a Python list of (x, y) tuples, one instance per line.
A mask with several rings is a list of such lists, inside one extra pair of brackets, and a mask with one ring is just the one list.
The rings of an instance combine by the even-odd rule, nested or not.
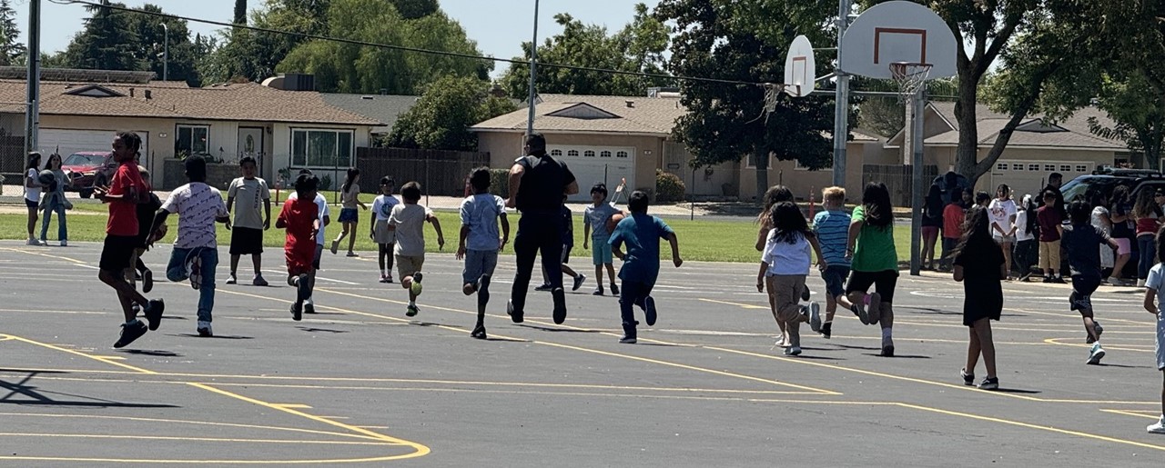
[[(962, 286), (937, 274), (899, 281), (896, 357), (876, 356), (880, 332), (843, 313), (832, 340), (803, 328), (804, 354), (788, 357), (774, 347), (755, 264), (665, 264), (659, 321), (620, 345), (617, 303), (591, 296), (593, 281), (567, 295), (564, 325), (550, 319), (549, 293), (532, 290), (525, 322), (510, 322), (507, 255), (482, 341), (469, 338), (475, 302), (460, 293), (451, 254), (429, 256), (421, 314), (409, 319), (404, 291), (376, 283), (373, 254), (325, 253), (319, 313), (296, 322), (282, 253), (268, 249), (273, 286), (225, 285), (224, 248), (214, 338), (195, 333), (190, 285), (160, 282), (150, 297), (167, 302), (161, 329), (113, 349), (122, 319), (97, 281), (99, 249), (0, 242), (0, 465), (1165, 461), (1165, 438), (1145, 433), (1162, 373), (1135, 289), (1093, 297), (1108, 356), (1086, 366), (1068, 288), (1005, 284), (994, 324), (1002, 388), (981, 391), (959, 377)], [(147, 263), (161, 272), (168, 250)], [(810, 285), (821, 299), (820, 278)]]

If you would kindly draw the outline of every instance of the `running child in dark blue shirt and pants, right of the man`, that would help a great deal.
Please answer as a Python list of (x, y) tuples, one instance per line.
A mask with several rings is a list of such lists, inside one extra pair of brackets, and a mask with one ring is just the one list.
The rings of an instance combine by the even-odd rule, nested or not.
[[(662, 219), (648, 215), (648, 194), (637, 190), (631, 192), (628, 207), (631, 210), (630, 217), (619, 221), (609, 241), (612, 253), (623, 261), (623, 267), (619, 269), (619, 278), (623, 281), (623, 290), (619, 296), (619, 310), (623, 319), (623, 336), (619, 339), (621, 343), (636, 341), (635, 326), (638, 322), (635, 321), (631, 305), (643, 309), (648, 326), (655, 325), (656, 307), (651, 289), (659, 276), (661, 239), (671, 243), (671, 261), (676, 268), (684, 264), (684, 260), (679, 257), (676, 232)], [(624, 243), (626, 254), (622, 250)]]

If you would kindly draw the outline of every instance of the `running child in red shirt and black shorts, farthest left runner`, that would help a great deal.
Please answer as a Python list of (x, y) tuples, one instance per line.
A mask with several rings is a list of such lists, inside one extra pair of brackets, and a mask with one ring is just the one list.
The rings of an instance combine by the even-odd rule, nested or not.
[[(134, 161), (141, 146), (141, 136), (136, 133), (118, 132), (113, 139), (113, 161), (119, 164), (118, 170), (108, 186), (93, 190), (93, 197), (110, 205), (98, 278), (118, 292), (121, 312), (126, 318), (121, 325), (121, 338), (113, 345), (114, 348), (132, 343), (144, 335), (147, 329), (157, 329), (165, 310), (165, 303), (161, 299), (146, 299), (126, 281), (134, 249), (139, 244), (137, 204), (146, 193), (146, 183), (137, 173), (137, 163)], [(144, 311), (148, 327), (137, 320), (137, 312), (133, 307), (135, 304)]]

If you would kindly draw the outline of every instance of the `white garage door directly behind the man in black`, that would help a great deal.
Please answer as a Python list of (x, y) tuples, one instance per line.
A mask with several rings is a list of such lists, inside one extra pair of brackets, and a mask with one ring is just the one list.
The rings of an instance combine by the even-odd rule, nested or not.
[[(589, 201), (591, 186), (598, 183), (607, 184), (607, 191), (614, 192), (620, 180), (627, 179), (628, 190), (635, 189), (635, 148), (548, 146), (546, 149), (566, 163), (579, 182), (579, 193), (571, 196), (571, 201)], [(626, 197), (622, 203), (627, 203)]]

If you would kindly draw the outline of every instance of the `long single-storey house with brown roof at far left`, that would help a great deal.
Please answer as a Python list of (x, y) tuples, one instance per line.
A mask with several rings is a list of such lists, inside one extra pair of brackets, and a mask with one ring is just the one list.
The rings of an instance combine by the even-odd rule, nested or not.
[[(26, 99), (23, 73), (0, 68), (0, 129), (8, 135), (24, 134), (24, 106), (16, 104)], [(312, 88), (303, 76), (192, 88), (153, 80), (151, 72), (47, 69), (37, 148), (63, 156), (104, 151), (113, 132), (133, 130), (158, 187), (174, 185), (164, 177), (167, 161), (196, 154), (227, 164), (254, 156), (269, 180), (282, 169), (350, 166), (383, 122), (329, 105)]]

